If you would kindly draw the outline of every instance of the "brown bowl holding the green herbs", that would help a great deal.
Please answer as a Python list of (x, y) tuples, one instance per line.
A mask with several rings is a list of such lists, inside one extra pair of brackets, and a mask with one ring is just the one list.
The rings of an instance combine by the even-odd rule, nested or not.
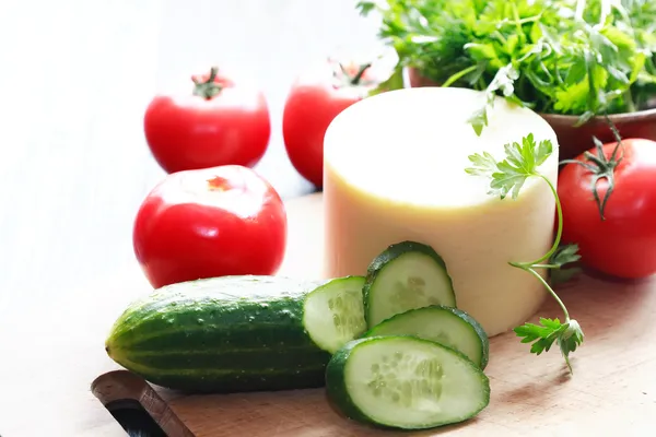
[[(423, 78), (413, 68), (408, 69), (406, 83), (410, 87), (438, 86), (432, 80)], [(612, 130), (604, 116), (594, 117), (579, 127), (576, 127), (578, 116), (559, 114), (540, 114), (540, 116), (555, 131), (560, 145), (560, 160), (572, 160), (593, 149), (595, 146), (593, 137), (597, 137), (602, 143), (614, 141)], [(656, 108), (614, 114), (608, 116), (608, 118), (623, 139), (644, 138), (656, 141)]]

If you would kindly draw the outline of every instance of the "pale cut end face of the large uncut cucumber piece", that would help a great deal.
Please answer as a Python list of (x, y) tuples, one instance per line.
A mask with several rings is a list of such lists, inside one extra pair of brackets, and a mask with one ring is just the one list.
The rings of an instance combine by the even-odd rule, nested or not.
[(366, 331), (364, 276), (338, 277), (305, 296), (303, 324), (312, 340), (331, 354)]

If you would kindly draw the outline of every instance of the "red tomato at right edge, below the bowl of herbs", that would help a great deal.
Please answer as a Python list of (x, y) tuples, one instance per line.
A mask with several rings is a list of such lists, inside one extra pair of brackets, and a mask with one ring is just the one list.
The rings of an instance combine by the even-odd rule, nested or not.
[[(567, 164), (559, 177), (563, 241), (579, 246), (581, 261), (606, 274), (640, 279), (656, 273), (656, 142), (622, 140), (623, 158), (614, 168), (614, 189), (604, 211), (593, 196), (594, 173)], [(610, 160), (617, 143), (604, 145)], [(589, 151), (598, 155), (595, 150)], [(618, 156), (621, 154), (621, 149)], [(590, 163), (583, 155), (576, 158)], [(604, 199), (609, 184), (597, 182)]]

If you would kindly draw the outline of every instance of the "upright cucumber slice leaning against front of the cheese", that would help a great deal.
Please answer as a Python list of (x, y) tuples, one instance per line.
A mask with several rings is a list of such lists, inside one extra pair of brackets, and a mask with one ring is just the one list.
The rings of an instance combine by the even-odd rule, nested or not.
[(444, 260), (432, 247), (414, 241), (391, 245), (367, 269), (364, 308), (370, 328), (409, 309), (456, 306)]

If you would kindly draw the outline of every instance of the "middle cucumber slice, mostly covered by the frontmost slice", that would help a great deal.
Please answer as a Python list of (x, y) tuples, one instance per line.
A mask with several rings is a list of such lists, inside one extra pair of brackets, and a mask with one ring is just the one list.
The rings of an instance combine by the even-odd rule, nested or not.
[(419, 336), (461, 352), (481, 369), (488, 365), (488, 334), (478, 321), (457, 308), (434, 305), (411, 309), (382, 321), (364, 334), (379, 335)]

